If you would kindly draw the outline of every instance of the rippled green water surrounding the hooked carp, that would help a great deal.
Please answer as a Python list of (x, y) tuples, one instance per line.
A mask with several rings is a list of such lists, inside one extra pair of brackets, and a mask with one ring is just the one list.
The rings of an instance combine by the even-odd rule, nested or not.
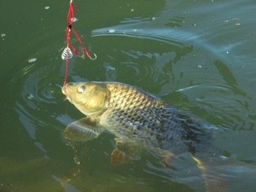
[[(236, 156), (218, 167), (227, 191), (255, 191), (255, 2), (74, 5), (73, 27), (97, 60), (74, 56), (68, 82), (119, 81), (191, 111), (218, 127), (214, 145)], [(173, 169), (148, 151), (113, 166), (108, 132), (83, 144), (62, 140), (65, 126), (83, 118), (60, 90), (67, 12), (68, 1), (1, 4), (0, 191), (205, 191), (186, 154)]]

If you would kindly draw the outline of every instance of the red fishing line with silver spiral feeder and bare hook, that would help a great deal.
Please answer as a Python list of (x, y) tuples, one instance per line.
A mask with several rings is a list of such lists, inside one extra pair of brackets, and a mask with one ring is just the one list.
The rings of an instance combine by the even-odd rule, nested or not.
[[(68, 10), (68, 15), (67, 15), (67, 29), (66, 29), (66, 36), (67, 36), (67, 47), (63, 50), (62, 54), (61, 54), (61, 58), (63, 60), (66, 60), (66, 69), (65, 69), (65, 81), (63, 86), (66, 85), (67, 83), (67, 76), (68, 76), (68, 60), (72, 58), (73, 54), (71, 49), (75, 52), (75, 54), (77, 56), (80, 56), (81, 58), (84, 58), (84, 54), (86, 54), (88, 56), (88, 58), (90, 58), (91, 60), (96, 60), (97, 56), (95, 53), (94, 54), (94, 58), (91, 57), (90, 53), (87, 51), (87, 49), (84, 47), (83, 42), (81, 41), (81, 38), (79, 37), (79, 35), (76, 33), (75, 29), (72, 27), (73, 22), (75, 21), (75, 14), (74, 14), (74, 8), (78, 11), (78, 9), (76, 7), (74, 7), (73, 5), (73, 0), (70, 0), (70, 6), (69, 6), (69, 10)], [(74, 33), (74, 35), (76, 36), (77, 40), (79, 41), (79, 43), (81, 44), (81, 46), (83, 47), (83, 54), (80, 54), (79, 51), (70, 43), (70, 31), (72, 31)], [(70, 49), (71, 48), (71, 49)]]

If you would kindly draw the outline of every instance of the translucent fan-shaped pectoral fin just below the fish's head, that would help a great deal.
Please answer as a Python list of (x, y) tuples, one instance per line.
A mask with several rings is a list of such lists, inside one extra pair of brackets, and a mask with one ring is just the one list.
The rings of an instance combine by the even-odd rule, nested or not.
[(69, 124), (63, 132), (63, 138), (68, 141), (90, 141), (97, 138), (103, 131), (104, 129), (95, 120), (86, 117)]

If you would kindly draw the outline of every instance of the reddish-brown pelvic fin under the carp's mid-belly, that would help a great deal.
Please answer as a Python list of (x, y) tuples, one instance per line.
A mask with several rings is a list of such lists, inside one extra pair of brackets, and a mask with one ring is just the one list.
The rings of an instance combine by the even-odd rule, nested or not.
[(124, 164), (132, 161), (140, 154), (141, 147), (135, 141), (115, 138), (116, 149), (111, 154), (112, 164)]

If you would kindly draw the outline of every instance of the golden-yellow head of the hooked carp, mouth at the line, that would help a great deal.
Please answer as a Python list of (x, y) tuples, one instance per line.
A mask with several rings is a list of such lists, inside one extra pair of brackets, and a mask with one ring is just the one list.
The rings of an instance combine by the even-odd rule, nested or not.
[(61, 91), (86, 116), (99, 114), (108, 108), (109, 91), (102, 83), (67, 83)]

